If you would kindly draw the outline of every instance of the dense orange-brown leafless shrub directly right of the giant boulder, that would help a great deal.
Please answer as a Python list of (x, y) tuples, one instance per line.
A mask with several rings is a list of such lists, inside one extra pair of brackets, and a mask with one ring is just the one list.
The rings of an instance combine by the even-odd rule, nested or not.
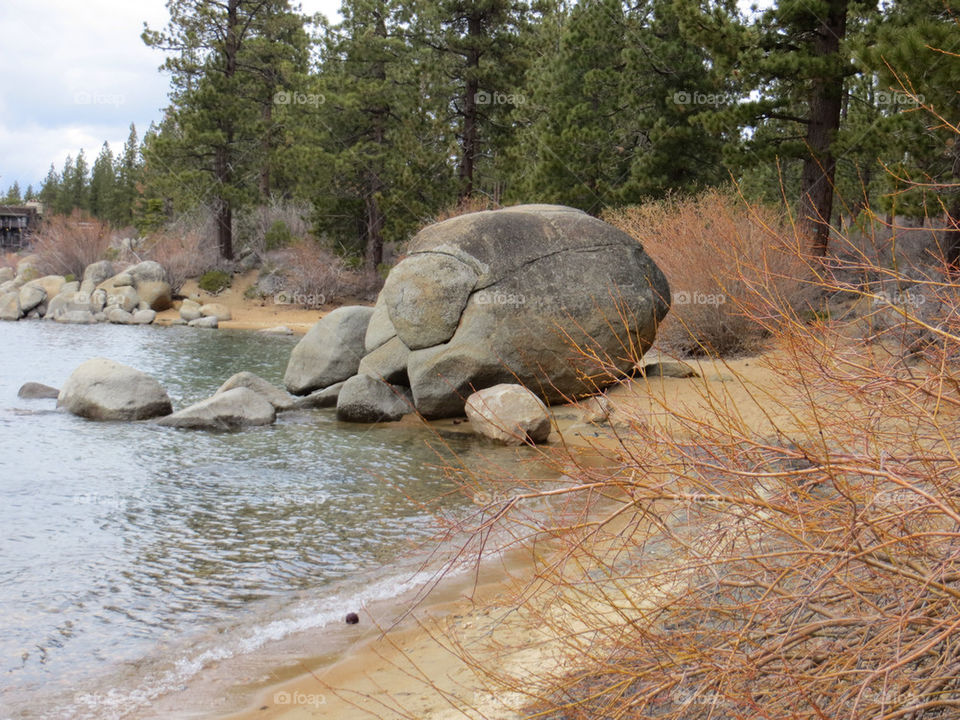
[(672, 304), (657, 344), (672, 353), (756, 350), (766, 330), (744, 303), (758, 283), (794, 308), (810, 302), (806, 263), (786, 218), (772, 209), (711, 190), (612, 210), (603, 219), (636, 238), (667, 276)]

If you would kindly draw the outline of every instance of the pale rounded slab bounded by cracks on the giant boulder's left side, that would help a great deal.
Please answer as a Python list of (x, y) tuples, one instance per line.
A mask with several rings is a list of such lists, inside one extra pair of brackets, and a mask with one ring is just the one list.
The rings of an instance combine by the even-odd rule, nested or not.
[(381, 294), (404, 344), (419, 350), (453, 337), (477, 278), (473, 267), (444, 253), (417, 253), (397, 265)]

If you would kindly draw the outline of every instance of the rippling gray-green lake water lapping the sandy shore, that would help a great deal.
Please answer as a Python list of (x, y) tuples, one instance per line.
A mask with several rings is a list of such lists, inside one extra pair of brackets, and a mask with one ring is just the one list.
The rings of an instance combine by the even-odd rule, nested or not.
[(240, 370), (281, 384), (296, 341), (0, 323), (0, 718), (133, 716), (206, 663), (404, 591), (434, 531), (421, 503), (467, 506), (432, 447), (476, 463), (514, 452), (455, 436), (443, 450), (427, 430), (329, 410), (223, 434), (16, 396), (105, 356), (156, 377), (178, 409)]

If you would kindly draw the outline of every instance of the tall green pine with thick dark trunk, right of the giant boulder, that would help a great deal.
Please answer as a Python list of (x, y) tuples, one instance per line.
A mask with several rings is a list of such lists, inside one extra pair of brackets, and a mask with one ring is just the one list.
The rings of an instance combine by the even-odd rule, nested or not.
[[(688, 37), (710, 48), (717, 75), (733, 74), (743, 83), (739, 102), (706, 109), (700, 120), (737, 138), (728, 156), (735, 166), (778, 157), (801, 161), (797, 214), (813, 252), (826, 253), (844, 82), (858, 72), (845, 42), (847, 26), (868, 14), (871, 3), (777, 0), (749, 22), (731, 0), (678, 0), (677, 6)], [(758, 132), (740, 142), (744, 128)]]

